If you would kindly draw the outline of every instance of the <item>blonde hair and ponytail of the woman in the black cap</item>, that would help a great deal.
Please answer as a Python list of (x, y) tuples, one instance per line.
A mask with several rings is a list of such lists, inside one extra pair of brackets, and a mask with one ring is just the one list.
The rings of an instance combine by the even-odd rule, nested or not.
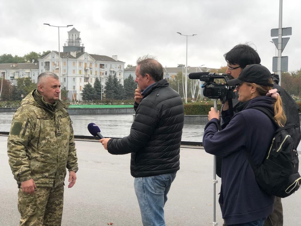
[[(270, 78), (269, 83), (274, 84), (272, 78)], [(268, 93), (268, 91), (272, 89), (271, 86), (263, 86), (263, 85), (258, 85), (256, 83), (247, 83), (247, 84), (255, 86), (259, 96), (265, 96), (266, 93)], [(286, 123), (287, 118), (282, 108), (282, 99), (279, 95), (277, 95), (277, 99), (273, 105), (274, 105), (274, 115), (275, 115), (274, 120), (280, 127), (283, 127)]]

